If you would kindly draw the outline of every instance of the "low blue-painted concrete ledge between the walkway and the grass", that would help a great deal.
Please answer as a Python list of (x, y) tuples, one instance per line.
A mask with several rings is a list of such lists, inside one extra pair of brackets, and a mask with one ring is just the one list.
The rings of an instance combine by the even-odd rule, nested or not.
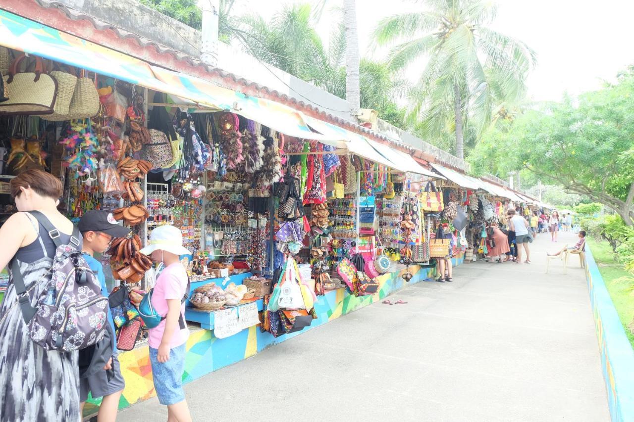
[(610, 415), (615, 422), (634, 421), (634, 351), (587, 243), (585, 255)]

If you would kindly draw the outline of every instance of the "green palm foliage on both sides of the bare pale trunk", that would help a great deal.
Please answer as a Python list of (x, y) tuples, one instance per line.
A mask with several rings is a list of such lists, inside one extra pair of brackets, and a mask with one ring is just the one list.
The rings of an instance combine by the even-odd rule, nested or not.
[[(321, 10), (309, 4), (291, 4), (284, 6), (270, 22), (259, 15), (238, 18), (242, 25), (234, 35), (245, 51), (259, 60), (339, 98), (348, 98), (346, 26), (343, 20), (334, 20), (326, 48), (314, 30), (320, 16)], [(406, 81), (394, 78), (387, 63), (381, 61), (362, 59), (358, 68), (357, 110), (359, 106), (374, 108), (386, 120), (404, 129), (404, 112), (394, 104), (394, 98), (403, 96), (408, 87)]]

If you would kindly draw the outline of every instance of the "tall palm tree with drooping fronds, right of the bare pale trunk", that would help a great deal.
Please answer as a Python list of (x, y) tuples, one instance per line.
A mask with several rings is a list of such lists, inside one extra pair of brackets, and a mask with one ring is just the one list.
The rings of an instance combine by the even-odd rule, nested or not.
[(425, 136), (455, 135), (455, 153), (464, 158), (464, 132), (477, 136), (496, 107), (511, 108), (526, 93), (526, 77), (536, 63), (524, 42), (486, 25), (496, 7), (483, 0), (424, 0), (429, 10), (393, 15), (374, 32), (389, 53), (393, 71), (427, 58), (418, 83), (408, 93), (407, 118), (418, 120)]

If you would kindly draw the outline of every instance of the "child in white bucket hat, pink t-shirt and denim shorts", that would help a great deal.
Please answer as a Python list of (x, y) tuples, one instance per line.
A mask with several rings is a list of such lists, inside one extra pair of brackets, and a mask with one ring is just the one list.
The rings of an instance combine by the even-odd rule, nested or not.
[(185, 312), (182, 298), (189, 293), (187, 271), (179, 257), (190, 251), (183, 247), (179, 229), (159, 226), (150, 233), (150, 242), (141, 252), (165, 265), (152, 293), (152, 306), (165, 319), (150, 329), (148, 338), (154, 389), (160, 404), (167, 406), (168, 420), (191, 421), (182, 383), (190, 332), (184, 324), (179, 326)]

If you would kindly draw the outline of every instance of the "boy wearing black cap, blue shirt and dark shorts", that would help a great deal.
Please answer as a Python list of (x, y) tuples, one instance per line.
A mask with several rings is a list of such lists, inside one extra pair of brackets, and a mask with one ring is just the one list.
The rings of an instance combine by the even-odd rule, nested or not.
[[(101, 262), (94, 259), (94, 253), (103, 253), (108, 249), (108, 245), (113, 238), (122, 238), (130, 232), (126, 227), (119, 226), (114, 216), (107, 211), (91, 210), (86, 212), (77, 225), (79, 231), (84, 238), (82, 252), (84, 259), (90, 269), (93, 270), (101, 283), (101, 294), (108, 297), (108, 289), (106, 287), (106, 279), (103, 275), (103, 266)], [(97, 420), (99, 422), (112, 421), (117, 419), (117, 410), (119, 409), (119, 398), (125, 387), (123, 376), (119, 368), (119, 360), (117, 359), (117, 346), (115, 344), (115, 326), (108, 308), (108, 321), (110, 321), (110, 329), (112, 329), (112, 358), (108, 364), (97, 374), (81, 378), (79, 381), (79, 395), (81, 399), (82, 411), (84, 403), (88, 398), (88, 393), (92, 393), (93, 398), (103, 397)], [(107, 373), (113, 374), (111, 376)]]

